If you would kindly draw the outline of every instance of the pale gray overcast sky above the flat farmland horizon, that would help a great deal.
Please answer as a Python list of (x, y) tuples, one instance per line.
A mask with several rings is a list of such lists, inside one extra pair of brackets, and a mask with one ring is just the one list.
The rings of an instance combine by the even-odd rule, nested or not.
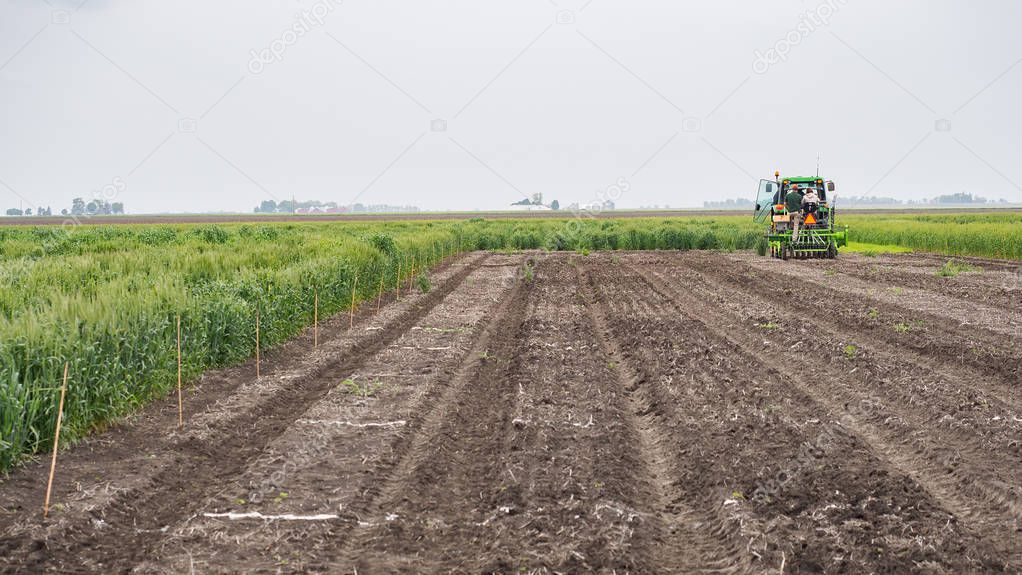
[(4, 208), (1022, 201), (1011, 0), (0, 2)]

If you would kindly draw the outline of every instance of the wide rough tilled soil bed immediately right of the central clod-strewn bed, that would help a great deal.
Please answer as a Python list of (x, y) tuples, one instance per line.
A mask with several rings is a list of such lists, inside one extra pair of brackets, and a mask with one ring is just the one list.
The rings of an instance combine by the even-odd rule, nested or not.
[[(675, 456), (679, 488), (715, 516), (714, 532), (747, 541), (739, 549), (753, 569), (785, 562), (812, 572), (997, 568), (985, 541), (856, 436), (817, 419), (827, 410), (703, 324), (702, 308), (676, 306), (631, 275), (600, 273), (594, 283), (614, 302), (611, 318), (628, 319), (611, 331), (654, 394), (649, 411), (669, 444), (684, 445)], [(824, 435), (827, 457), (805, 461), (801, 445)], [(790, 485), (765, 504), (747, 499), (779, 465), (794, 466)]]

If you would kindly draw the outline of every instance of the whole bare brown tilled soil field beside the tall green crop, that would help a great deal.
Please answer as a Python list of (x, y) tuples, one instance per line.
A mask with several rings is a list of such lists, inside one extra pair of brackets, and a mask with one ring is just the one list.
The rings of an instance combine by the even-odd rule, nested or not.
[(461, 256), (0, 484), (0, 569), (1022, 572), (1022, 266)]

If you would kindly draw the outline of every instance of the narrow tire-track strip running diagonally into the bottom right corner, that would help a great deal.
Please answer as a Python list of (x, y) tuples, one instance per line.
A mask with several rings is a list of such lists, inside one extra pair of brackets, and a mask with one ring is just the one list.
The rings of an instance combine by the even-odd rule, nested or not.
[[(732, 345), (744, 349), (750, 356), (760, 358), (766, 369), (782, 374), (800, 392), (819, 401), (826, 408), (821, 413), (830, 412), (842, 427), (865, 440), (881, 460), (897, 470), (898, 474), (911, 477), (923, 486), (940, 507), (954, 513), (969, 531), (989, 544), (991, 550), (994, 550), (992, 557), (1003, 558), (1005, 565), (1013, 566), (1011, 569), (1022, 569), (1022, 545), (1013, 542), (1011, 535), (1020, 531), (1018, 498), (1011, 493), (1010, 487), (1019, 470), (1014, 469), (1016, 474), (1013, 478), (991, 479), (983, 474), (977, 477), (976, 474), (976, 467), (984, 465), (998, 471), (1004, 469), (1004, 462), (998, 462), (995, 456), (997, 451), (991, 451), (988, 447), (984, 449), (982, 444), (973, 443), (969, 462), (974, 467), (971, 470), (963, 469), (961, 464), (955, 463), (956, 457), (966, 460), (962, 456), (964, 449), (961, 445), (938, 450), (941, 442), (954, 443), (953, 438), (932, 427), (919, 431), (918, 428), (911, 427), (921, 425), (911, 413), (884, 408), (875, 396), (858, 391), (871, 387), (868, 380), (864, 380), (857, 387), (842, 383), (852, 374), (842, 369), (833, 369), (834, 358), (827, 357), (824, 349), (805, 350), (807, 353), (821, 353), (821, 357), (825, 357), (823, 362), (808, 363), (802, 360), (801, 354), (796, 353), (785, 355), (790, 362), (776, 360), (776, 351), (772, 349), (776, 349), (776, 346), (783, 346), (782, 349), (785, 349), (790, 340), (775, 341), (776, 345), (764, 348), (764, 338), (773, 340), (777, 336), (764, 334), (761, 330), (758, 333), (750, 331), (755, 323), (752, 318), (754, 314), (746, 312), (742, 316), (742, 310), (747, 309), (747, 306), (730, 304), (727, 297), (721, 296), (721, 292), (726, 291), (721, 285), (727, 284), (728, 280), (722, 280), (722, 284), (713, 290), (693, 282), (690, 277), (685, 283), (685, 290), (682, 290), (665, 278), (662, 272), (634, 269), (652, 289), (675, 301), (679, 309), (691, 310), (708, 329), (728, 334), (724, 337)], [(742, 294), (740, 298), (746, 303), (749, 301), (748, 294)], [(715, 301), (716, 305), (709, 305), (706, 303), (708, 301)], [(725, 319), (722, 314), (738, 316), (743, 320), (744, 329)], [(793, 314), (797, 317), (798, 312)], [(771, 317), (777, 319), (778, 316)], [(806, 374), (812, 374), (814, 378), (809, 379)], [(827, 392), (817, 389), (821, 381), (831, 383)], [(890, 400), (889, 404), (898, 404), (898, 401)], [(910, 422), (910, 427), (905, 427), (907, 421)], [(902, 447), (908, 437), (914, 438), (914, 444)], [(991, 462), (998, 463), (992, 466)]]

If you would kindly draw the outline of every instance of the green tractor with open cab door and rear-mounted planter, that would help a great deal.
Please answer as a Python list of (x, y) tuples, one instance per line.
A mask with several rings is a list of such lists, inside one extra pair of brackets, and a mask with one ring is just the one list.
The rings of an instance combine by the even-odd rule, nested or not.
[[(781, 259), (837, 257), (837, 248), (847, 244), (847, 228), (837, 228), (834, 224), (835, 210), (828, 199), (834, 191), (834, 182), (816, 177), (781, 178), (775, 173), (775, 180), (760, 180), (756, 194), (756, 222), (770, 221), (766, 242), (773, 257)], [(804, 213), (789, 213), (785, 196), (797, 186), (800, 192), (816, 191), (820, 203), (815, 209)], [(795, 229), (798, 221), (797, 235)]]

